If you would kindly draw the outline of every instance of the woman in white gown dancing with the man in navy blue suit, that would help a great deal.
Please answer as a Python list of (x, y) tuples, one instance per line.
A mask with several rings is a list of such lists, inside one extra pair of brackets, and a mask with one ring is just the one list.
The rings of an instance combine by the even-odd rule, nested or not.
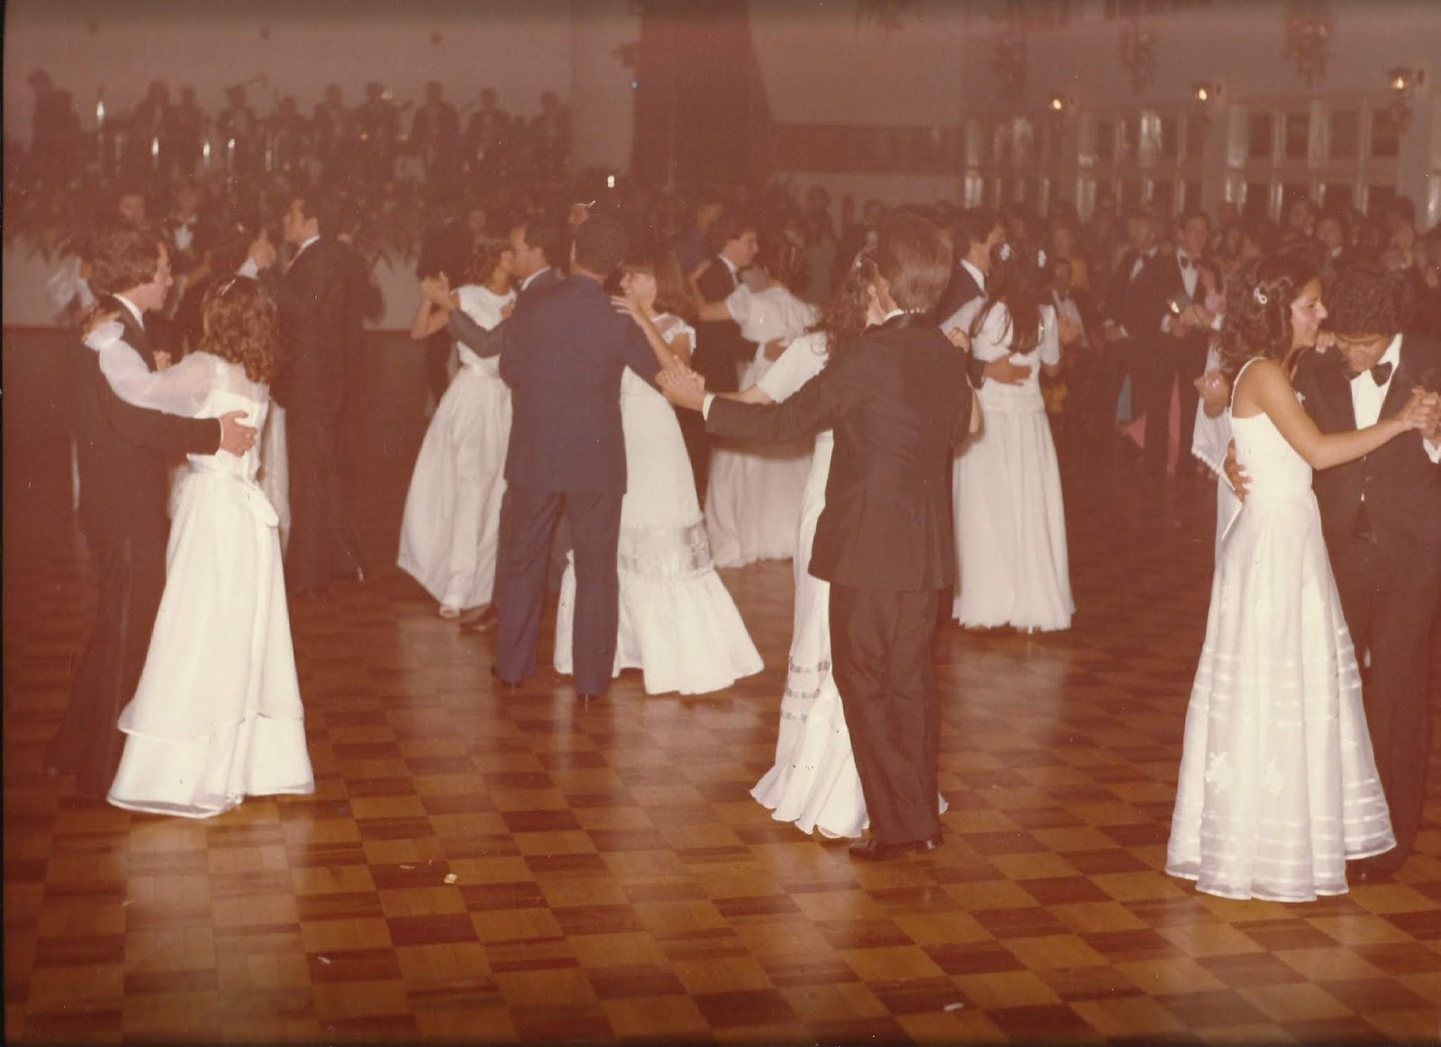
[[(627, 262), (621, 277), (628, 313), (661, 366), (689, 361), (695, 328), (666, 311), (683, 304), (680, 269), (669, 252)], [(621, 377), (625, 497), (617, 554), (620, 626), (615, 673), (638, 668), (647, 694), (705, 694), (764, 668), (761, 654), (710, 562), (696, 482), (676, 412), (633, 372)], [(571, 674), (575, 560), (561, 579), (555, 668)]]

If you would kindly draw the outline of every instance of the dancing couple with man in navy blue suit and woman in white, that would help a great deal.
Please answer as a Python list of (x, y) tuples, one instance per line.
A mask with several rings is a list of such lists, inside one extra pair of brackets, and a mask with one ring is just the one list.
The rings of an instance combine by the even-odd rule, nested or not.
[[(624, 269), (624, 298), (605, 281)], [(582, 700), (621, 668), (648, 693), (720, 690), (761, 670), (710, 563), (674, 412), (656, 376), (682, 367), (693, 328), (667, 311), (680, 278), (669, 255), (627, 256), (625, 232), (591, 219), (571, 275), (520, 295), (501, 324), (512, 389), (506, 505), (491, 673), (517, 688), (536, 671), (550, 540), (565, 514), (574, 550), (561, 588), (555, 667)]]

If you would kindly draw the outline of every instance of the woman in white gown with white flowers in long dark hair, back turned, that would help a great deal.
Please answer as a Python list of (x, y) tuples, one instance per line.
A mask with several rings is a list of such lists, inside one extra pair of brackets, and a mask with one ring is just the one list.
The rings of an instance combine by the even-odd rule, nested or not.
[(1061, 373), (1046, 279), (1045, 252), (1025, 242), (997, 243), (987, 297), (955, 317), (977, 360), (1010, 357), (1030, 369), (1020, 385), (981, 385), (977, 399), (986, 421), (955, 454), (960, 580), (951, 615), (968, 628), (1066, 629), (1075, 611), (1061, 467), (1040, 395), (1040, 370)]

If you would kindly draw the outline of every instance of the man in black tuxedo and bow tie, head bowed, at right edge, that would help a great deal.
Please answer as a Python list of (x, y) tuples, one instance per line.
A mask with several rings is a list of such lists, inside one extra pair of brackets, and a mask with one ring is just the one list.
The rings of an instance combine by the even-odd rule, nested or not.
[[(1401, 334), (1399, 279), (1346, 269), (1331, 291), (1336, 349), (1307, 353), (1295, 389), (1321, 432), (1389, 418), (1415, 386), (1441, 392), (1441, 343)], [(1321, 530), (1362, 662), (1366, 726), (1386, 791), (1392, 851), (1359, 863), (1393, 873), (1421, 828), (1431, 753), (1429, 661), (1441, 601), (1441, 431), (1401, 436), (1316, 474)]]

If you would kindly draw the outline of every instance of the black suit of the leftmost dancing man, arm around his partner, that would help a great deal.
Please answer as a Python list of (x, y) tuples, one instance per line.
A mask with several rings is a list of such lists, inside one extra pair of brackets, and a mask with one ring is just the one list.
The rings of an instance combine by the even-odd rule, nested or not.
[[(101, 305), (118, 310), (125, 341), (150, 363), (144, 328), (130, 311), (112, 300)], [(104, 796), (120, 763), (115, 723), (140, 683), (166, 585), (169, 464), (183, 454), (215, 454), (220, 423), (125, 403), (101, 373), (98, 353), (79, 343), (72, 353), (79, 523), (99, 606), (46, 766), (73, 772), (81, 794)]]

